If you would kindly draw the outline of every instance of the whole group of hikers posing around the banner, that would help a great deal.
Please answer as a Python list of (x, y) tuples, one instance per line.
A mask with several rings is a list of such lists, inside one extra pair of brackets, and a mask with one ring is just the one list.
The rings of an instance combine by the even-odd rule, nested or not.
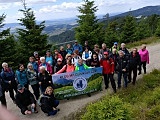
[[(36, 101), (41, 98), (41, 110), (47, 115), (55, 115), (59, 111), (57, 108), (59, 101), (53, 94), (53, 74), (103, 67), (105, 89), (109, 87), (110, 81), (113, 91), (116, 92), (117, 88), (122, 86), (122, 76), (124, 87), (127, 87), (131, 81), (135, 85), (137, 71), (138, 74), (141, 74), (143, 66), (144, 74), (146, 74), (146, 64), (149, 64), (149, 52), (146, 45), (142, 45), (139, 51), (134, 48), (129, 52), (124, 43), (118, 47), (118, 43), (115, 42), (110, 49), (105, 43), (102, 44), (102, 48), (96, 44), (91, 49), (87, 41), (84, 46), (75, 41), (73, 47), (70, 44), (66, 49), (61, 46), (59, 50), (54, 50), (54, 53), (47, 50), (46, 55), (42, 57), (35, 51), (33, 56), (29, 57), (27, 68), (24, 64), (19, 64), (15, 72), (8, 67), (6, 62), (2, 63), (0, 100), (6, 106), (4, 93), (9, 91), (13, 102), (21, 109), (21, 113), (26, 115), (38, 112)], [(118, 75), (118, 86), (114, 78), (116, 74)], [(29, 91), (29, 85), (33, 94)]]

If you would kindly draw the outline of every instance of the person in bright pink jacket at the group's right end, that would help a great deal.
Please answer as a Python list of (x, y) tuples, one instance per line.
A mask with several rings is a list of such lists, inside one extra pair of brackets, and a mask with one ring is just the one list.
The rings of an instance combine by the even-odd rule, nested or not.
[[(143, 65), (144, 74), (146, 74), (146, 64), (149, 64), (149, 52), (146, 49), (146, 45), (142, 45), (142, 49), (139, 50), (139, 55), (141, 57), (141, 66)], [(138, 73), (139, 75), (141, 74), (141, 66)]]

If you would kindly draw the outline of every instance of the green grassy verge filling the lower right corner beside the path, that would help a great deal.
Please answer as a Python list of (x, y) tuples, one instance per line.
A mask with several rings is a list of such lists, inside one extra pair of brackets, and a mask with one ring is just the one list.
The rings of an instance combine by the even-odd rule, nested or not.
[(159, 120), (160, 71), (153, 70), (135, 86), (90, 103), (75, 120)]

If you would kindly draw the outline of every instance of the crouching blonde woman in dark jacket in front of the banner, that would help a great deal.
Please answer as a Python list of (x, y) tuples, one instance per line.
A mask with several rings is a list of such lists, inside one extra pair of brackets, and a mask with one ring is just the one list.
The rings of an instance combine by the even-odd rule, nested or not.
[(41, 110), (48, 116), (55, 115), (59, 111), (57, 108), (59, 101), (54, 97), (53, 88), (51, 86), (48, 86), (42, 94), (40, 103)]

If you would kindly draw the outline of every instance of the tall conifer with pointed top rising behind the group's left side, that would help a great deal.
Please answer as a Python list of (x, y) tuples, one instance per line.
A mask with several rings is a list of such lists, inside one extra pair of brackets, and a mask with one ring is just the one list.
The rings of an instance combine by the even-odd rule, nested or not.
[(36, 17), (31, 8), (27, 8), (25, 0), (22, 1), (24, 9), (19, 11), (24, 17), (18, 19), (22, 28), (17, 29), (19, 51), (21, 52), (21, 60), (19, 62), (27, 62), (28, 57), (33, 55), (34, 51), (44, 54), (47, 46), (47, 35), (42, 31), (45, 28), (45, 21), (40, 24), (36, 23)]

